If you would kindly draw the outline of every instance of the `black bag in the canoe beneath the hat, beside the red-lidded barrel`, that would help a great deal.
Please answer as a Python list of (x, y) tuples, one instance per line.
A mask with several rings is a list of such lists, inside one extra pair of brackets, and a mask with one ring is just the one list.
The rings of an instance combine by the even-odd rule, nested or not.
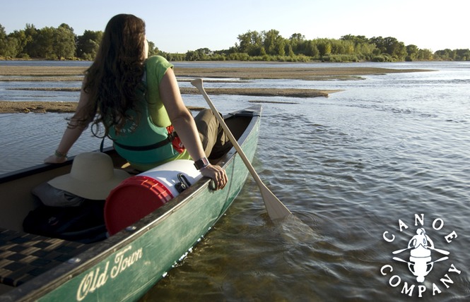
[(23, 221), (25, 232), (67, 241), (93, 243), (107, 238), (105, 200), (85, 200), (77, 207), (41, 204)]

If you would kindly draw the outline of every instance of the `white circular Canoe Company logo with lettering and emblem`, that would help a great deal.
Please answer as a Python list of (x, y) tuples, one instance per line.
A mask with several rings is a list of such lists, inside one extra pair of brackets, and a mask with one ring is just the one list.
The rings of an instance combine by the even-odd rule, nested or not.
[[(435, 296), (444, 289), (450, 289), (450, 286), (454, 284), (453, 275), (462, 272), (452, 263), (452, 255), (445, 249), (445, 245), (452, 243), (452, 240), (457, 238), (457, 233), (453, 230), (446, 231), (444, 220), (441, 218), (434, 219), (429, 226), (425, 225), (424, 220), (423, 214), (415, 214), (414, 227), (416, 228), (410, 228), (414, 234), (403, 235), (404, 230), (409, 229), (409, 226), (399, 219), (398, 230), (401, 239), (402, 241), (407, 240), (408, 245), (406, 246), (404, 243), (403, 248), (393, 250), (390, 261), (392, 264), (383, 265), (380, 268), (380, 274), (389, 278), (388, 284), (390, 286), (401, 288), (401, 294), (418, 298), (425, 296), (427, 290), (432, 296)], [(426, 230), (430, 231), (429, 234)], [(432, 236), (437, 240), (433, 241)], [(382, 238), (387, 243), (392, 243), (396, 236), (391, 231), (384, 231)], [(440, 243), (436, 243), (435, 246), (437, 241)], [(437, 246), (438, 244), (439, 246)], [(445, 271), (441, 269), (440, 272), (431, 273), (437, 262), (445, 263), (448, 266), (441, 266), (445, 268)], [(398, 267), (399, 265), (401, 267)], [(408, 267), (409, 274), (401, 273), (400, 275), (394, 272), (394, 267), (403, 271), (403, 266)]]

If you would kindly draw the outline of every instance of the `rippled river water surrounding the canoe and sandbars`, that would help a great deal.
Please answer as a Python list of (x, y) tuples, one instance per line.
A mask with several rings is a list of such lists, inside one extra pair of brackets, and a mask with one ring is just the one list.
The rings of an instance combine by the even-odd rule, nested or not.
[[(430, 71), (206, 83), (342, 91), (327, 98), (211, 97), (223, 113), (263, 103), (254, 168), (294, 216), (271, 222), (248, 179), (225, 217), (142, 301), (469, 301), (470, 64), (358, 65)], [(0, 99), (78, 98), (6, 85), (37, 83), (0, 82)], [(206, 105), (197, 95), (184, 100)], [(57, 146), (65, 116), (1, 114), (0, 173), (42, 162)], [(87, 132), (71, 154), (99, 143)], [(423, 230), (428, 237), (419, 250)]]

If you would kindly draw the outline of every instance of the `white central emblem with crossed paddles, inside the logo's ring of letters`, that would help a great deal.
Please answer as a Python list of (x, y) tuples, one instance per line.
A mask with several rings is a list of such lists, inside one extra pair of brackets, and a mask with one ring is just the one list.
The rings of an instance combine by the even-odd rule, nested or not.
[(398, 257), (394, 257), (393, 260), (407, 263), (408, 269), (414, 276), (416, 276), (417, 282), (424, 282), (424, 277), (426, 277), (429, 272), (433, 270), (435, 262), (449, 259), (447, 256), (437, 260), (431, 259), (431, 250), (434, 250), (437, 253), (441, 253), (442, 255), (449, 255), (449, 252), (447, 250), (435, 248), (433, 241), (429, 238), (428, 235), (426, 235), (424, 228), (416, 230), (416, 235), (410, 239), (408, 248), (395, 250), (393, 254), (396, 255), (406, 250), (410, 250), (409, 261)]

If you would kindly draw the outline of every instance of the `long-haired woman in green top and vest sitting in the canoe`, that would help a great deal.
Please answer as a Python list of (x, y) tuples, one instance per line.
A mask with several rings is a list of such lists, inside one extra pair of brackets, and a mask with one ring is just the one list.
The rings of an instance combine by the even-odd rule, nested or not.
[(221, 155), (230, 142), (210, 110), (193, 119), (182, 101), (172, 65), (161, 56), (148, 58), (145, 23), (136, 16), (121, 14), (108, 22), (95, 61), (83, 79), (76, 113), (56, 152), (45, 162), (64, 162), (89, 123), (97, 136), (102, 123), (104, 135), (113, 140), (119, 155), (140, 171), (191, 158), (217, 189), (228, 181), (225, 171), (210, 164), (207, 157), (211, 152)]

